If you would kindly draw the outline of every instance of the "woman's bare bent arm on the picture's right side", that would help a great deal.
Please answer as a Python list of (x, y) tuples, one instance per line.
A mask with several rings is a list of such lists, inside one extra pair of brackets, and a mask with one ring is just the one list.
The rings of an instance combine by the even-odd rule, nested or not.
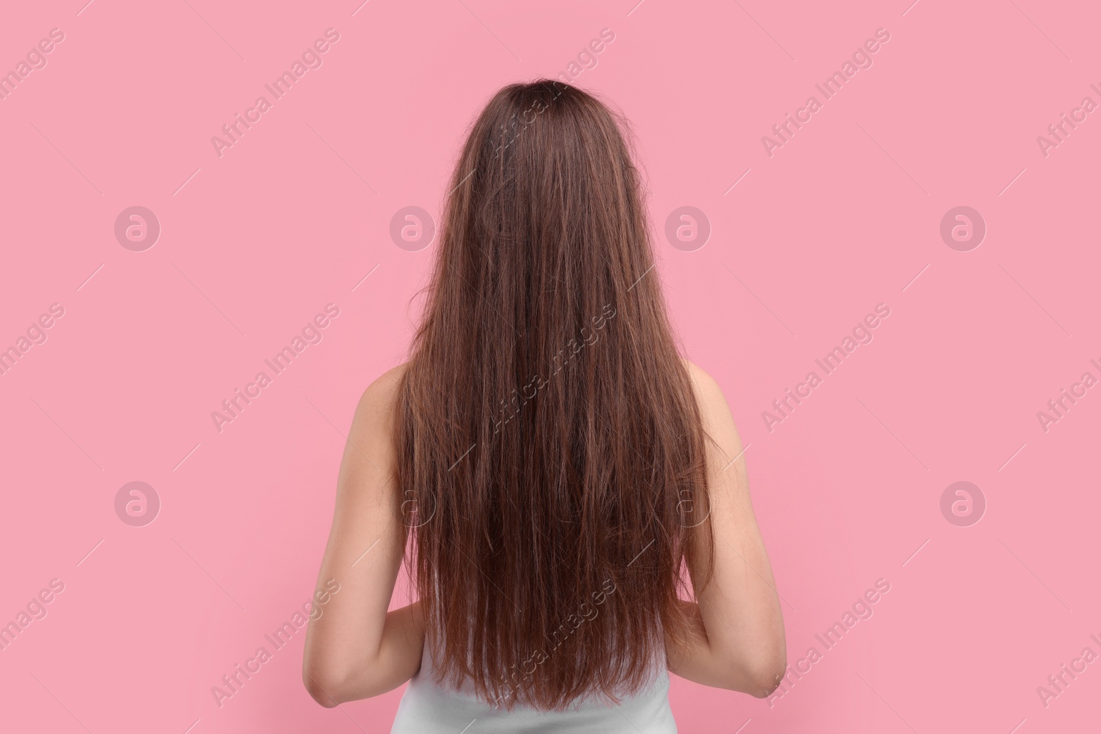
[[(715, 380), (686, 362), (707, 442), (713, 566), (689, 568), (696, 602), (683, 602), (694, 634), (686, 648), (666, 646), (669, 670), (698, 683), (770, 695), (787, 667), (784, 617), (772, 565), (753, 515), (741, 439)], [(701, 528), (705, 526), (700, 526)], [(699, 580), (710, 570), (710, 581)]]

